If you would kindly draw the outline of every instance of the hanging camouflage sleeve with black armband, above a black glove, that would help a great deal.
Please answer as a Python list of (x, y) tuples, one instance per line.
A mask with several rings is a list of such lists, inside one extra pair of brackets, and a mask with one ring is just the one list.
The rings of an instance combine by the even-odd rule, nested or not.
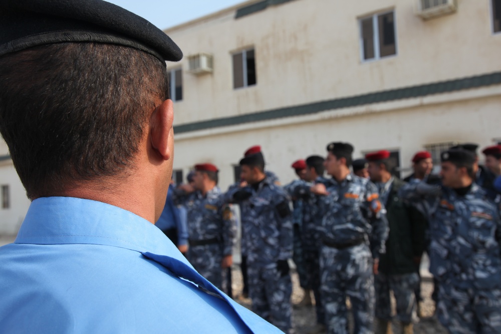
[(275, 205), (275, 217), (278, 223), (279, 236), (279, 260), (292, 258), (293, 221), (289, 198), (282, 195)]

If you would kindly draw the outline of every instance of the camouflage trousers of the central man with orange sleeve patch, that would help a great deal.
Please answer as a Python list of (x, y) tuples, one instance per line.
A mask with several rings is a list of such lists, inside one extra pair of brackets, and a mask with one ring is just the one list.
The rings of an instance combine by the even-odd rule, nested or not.
[(321, 291), (329, 334), (348, 334), (346, 297), (350, 298), (354, 333), (372, 333), (374, 278), (372, 254), (366, 244), (336, 249), (322, 246)]

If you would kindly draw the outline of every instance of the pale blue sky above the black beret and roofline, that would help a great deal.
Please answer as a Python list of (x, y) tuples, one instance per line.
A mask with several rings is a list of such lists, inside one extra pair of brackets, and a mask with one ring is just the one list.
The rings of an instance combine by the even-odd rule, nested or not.
[(106, 0), (164, 30), (200, 18), (245, 0)]

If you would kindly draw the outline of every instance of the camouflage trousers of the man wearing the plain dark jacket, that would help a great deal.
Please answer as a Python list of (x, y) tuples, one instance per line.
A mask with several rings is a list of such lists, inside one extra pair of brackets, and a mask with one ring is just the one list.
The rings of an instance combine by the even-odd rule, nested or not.
[(418, 284), (419, 276), (415, 272), (403, 275), (386, 275), (380, 272), (375, 275), (376, 318), (391, 320), (390, 290), (392, 290), (397, 306), (396, 319), (401, 322), (411, 322), (412, 313), (416, 309), (415, 289)]

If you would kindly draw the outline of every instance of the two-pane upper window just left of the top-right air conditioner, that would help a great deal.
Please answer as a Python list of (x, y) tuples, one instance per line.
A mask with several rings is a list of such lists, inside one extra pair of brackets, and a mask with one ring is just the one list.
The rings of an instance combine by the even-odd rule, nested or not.
[(377, 60), (395, 55), (394, 13), (376, 14), (360, 20), (362, 60)]

